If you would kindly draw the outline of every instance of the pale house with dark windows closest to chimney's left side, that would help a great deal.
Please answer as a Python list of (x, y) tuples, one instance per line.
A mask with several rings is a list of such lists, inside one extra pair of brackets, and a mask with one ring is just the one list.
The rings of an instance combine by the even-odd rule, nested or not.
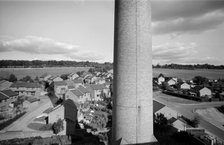
[(102, 94), (109, 94), (109, 89), (105, 84), (88, 84), (87, 88), (91, 91), (91, 96), (95, 101), (102, 101)]

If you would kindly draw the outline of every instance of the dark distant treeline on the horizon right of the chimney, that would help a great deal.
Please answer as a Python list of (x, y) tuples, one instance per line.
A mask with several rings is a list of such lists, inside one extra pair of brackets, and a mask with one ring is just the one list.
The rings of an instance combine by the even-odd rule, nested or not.
[(224, 69), (224, 65), (211, 65), (211, 64), (165, 64), (153, 65), (153, 68), (169, 68), (169, 69)]

